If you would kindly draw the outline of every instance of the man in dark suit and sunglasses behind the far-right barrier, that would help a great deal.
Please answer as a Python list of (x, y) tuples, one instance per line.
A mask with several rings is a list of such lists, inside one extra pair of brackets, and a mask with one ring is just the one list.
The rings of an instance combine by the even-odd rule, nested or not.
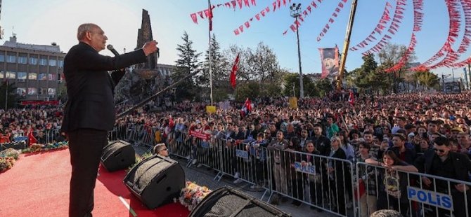
[[(421, 173), (469, 182), (470, 176), (468, 173), (471, 172), (470, 159), (467, 158), (467, 155), (451, 152), (450, 150), (449, 139), (446, 137), (437, 137), (437, 139), (434, 140), (433, 149), (425, 151), (424, 155), (415, 160), (415, 167), (417, 167)], [(436, 183), (432, 183), (432, 181), (425, 176), (422, 176), (422, 183), (430, 190), (436, 189), (439, 193), (451, 195), (453, 198), (454, 216), (467, 216), (465, 206), (467, 206), (468, 215), (470, 214), (471, 191), (468, 186), (459, 183), (450, 183), (449, 186), (446, 181), (438, 179)], [(467, 204), (465, 204), (465, 192)], [(439, 209), (439, 216), (444, 216), (444, 214), (449, 214), (449, 211)]]

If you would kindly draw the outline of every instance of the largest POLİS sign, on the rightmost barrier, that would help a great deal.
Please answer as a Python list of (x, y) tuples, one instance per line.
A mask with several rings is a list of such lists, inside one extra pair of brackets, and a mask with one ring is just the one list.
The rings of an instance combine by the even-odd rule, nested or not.
[(451, 195), (407, 186), (407, 197), (409, 200), (453, 211), (453, 198)]

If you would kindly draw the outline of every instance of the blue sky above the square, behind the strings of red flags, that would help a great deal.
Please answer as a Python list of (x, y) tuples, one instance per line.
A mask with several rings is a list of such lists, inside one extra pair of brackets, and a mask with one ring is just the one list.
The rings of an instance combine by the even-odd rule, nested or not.
[[(282, 0), (283, 1), (283, 0)], [(288, 1), (288, 0), (287, 0)], [(317, 0), (316, 0), (317, 1)], [(341, 49), (344, 43), (345, 29), (351, 7), (351, 0), (330, 30), (321, 41), (316, 37), (331, 17), (340, 0), (324, 0), (318, 3), (318, 8), (305, 18), (299, 27), (301, 44), (302, 68), (304, 73), (321, 72), (318, 48), (330, 48), (336, 44)], [(394, 0), (359, 0), (356, 10), (354, 29), (351, 34), (351, 45), (363, 41), (377, 25), (385, 3), (389, 1), (395, 6)], [(424, 0), (425, 1), (425, 0)], [(226, 3), (225, 0), (212, 0), (213, 4)], [(215, 8), (212, 33), (221, 44), (228, 48), (236, 44), (244, 48), (255, 48), (259, 42), (269, 45), (276, 53), (280, 66), (297, 72), (296, 34), (289, 30), (293, 22), (288, 6), (277, 8), (273, 12), (273, 1), (257, 0), (257, 6), (243, 7), (236, 10), (220, 7)], [(302, 3), (306, 8), (311, 1), (292, 1)], [(236, 36), (233, 30), (253, 18), (262, 8), (271, 7), (270, 13), (261, 20), (254, 19), (250, 28)], [(4, 38), (8, 39), (12, 32), (17, 34), (18, 42), (50, 44), (56, 42), (63, 52), (67, 52), (77, 43), (76, 31), (79, 24), (94, 22), (100, 25), (108, 36), (108, 43), (122, 52), (123, 48), (132, 50), (136, 46), (137, 29), (141, 26), (141, 10), (149, 11), (153, 36), (159, 42), (160, 63), (174, 64), (177, 58), (176, 45), (182, 43), (183, 31), (187, 31), (194, 48), (198, 52), (207, 49), (208, 33), (207, 20), (198, 19), (198, 25), (193, 23), (190, 14), (207, 8), (207, 0), (3, 0), (1, 8), (1, 27), (4, 28)], [(391, 9), (393, 15), (394, 9)], [(418, 62), (425, 62), (432, 57), (446, 41), (449, 30), (449, 16), (444, 1), (427, 0), (424, 3), (424, 21), (422, 31), (417, 34), (416, 56)], [(412, 0), (407, 1), (404, 20), (399, 31), (392, 37), (391, 42), (408, 45), (413, 27)], [(464, 19), (463, 19), (464, 20)], [(462, 24), (464, 27), (464, 23)], [(288, 34), (283, 36), (283, 31)], [(454, 48), (458, 48), (462, 35)], [(379, 37), (377, 37), (379, 38)], [(372, 47), (375, 43), (371, 43)], [(368, 48), (370, 48), (368, 47)], [(366, 49), (349, 52), (347, 70), (355, 69), (362, 64), (361, 52)], [(108, 51), (104, 55), (112, 55)], [(461, 59), (470, 56), (466, 52)], [(451, 69), (437, 69), (436, 73), (450, 73)], [(455, 70), (456, 77), (463, 70)]]

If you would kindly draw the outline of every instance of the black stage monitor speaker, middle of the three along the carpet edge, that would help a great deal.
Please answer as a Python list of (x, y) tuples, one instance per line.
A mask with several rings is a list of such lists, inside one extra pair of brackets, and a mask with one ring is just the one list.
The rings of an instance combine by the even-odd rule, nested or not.
[(146, 207), (154, 209), (179, 198), (185, 172), (176, 160), (153, 155), (132, 167), (123, 181)]

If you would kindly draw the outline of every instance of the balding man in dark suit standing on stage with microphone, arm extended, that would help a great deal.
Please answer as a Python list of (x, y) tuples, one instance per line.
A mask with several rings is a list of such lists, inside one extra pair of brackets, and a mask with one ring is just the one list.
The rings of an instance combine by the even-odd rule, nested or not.
[[(115, 124), (115, 85), (124, 69), (146, 62), (146, 56), (157, 50), (150, 41), (142, 49), (107, 57), (98, 54), (108, 38), (91, 23), (77, 30), (79, 44), (70, 48), (64, 59), (68, 101), (64, 109), (62, 131), (67, 134), (72, 177), (70, 179), (69, 216), (91, 216), (93, 188), (103, 146), (108, 143), (108, 130)], [(113, 71), (111, 75), (108, 70)]]

